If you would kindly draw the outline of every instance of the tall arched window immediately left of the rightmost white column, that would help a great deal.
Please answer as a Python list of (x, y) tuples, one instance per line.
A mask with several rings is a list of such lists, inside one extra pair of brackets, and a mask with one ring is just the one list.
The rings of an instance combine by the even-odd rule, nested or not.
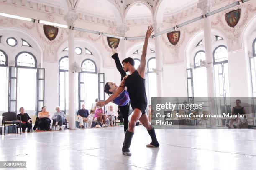
[(194, 97), (208, 97), (205, 52), (198, 51), (194, 57)]

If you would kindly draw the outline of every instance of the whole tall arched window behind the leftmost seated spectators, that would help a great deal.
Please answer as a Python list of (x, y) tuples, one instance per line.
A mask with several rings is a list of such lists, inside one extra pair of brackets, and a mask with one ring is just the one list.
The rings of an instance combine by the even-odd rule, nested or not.
[(20, 52), (16, 58), (17, 110), (26, 108), (30, 114), (36, 113), (36, 57), (30, 52)]

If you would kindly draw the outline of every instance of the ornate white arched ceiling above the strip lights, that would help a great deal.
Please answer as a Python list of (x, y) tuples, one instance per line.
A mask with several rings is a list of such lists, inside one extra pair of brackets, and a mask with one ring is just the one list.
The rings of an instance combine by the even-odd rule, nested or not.
[[(198, 0), (0, 0), (13, 6), (20, 6), (44, 13), (64, 15), (68, 6), (76, 7), (79, 19), (106, 25), (116, 24), (116, 11), (106, 4), (112, 4), (128, 25), (152, 23), (152, 14), (161, 2), (165, 2), (163, 22), (173, 22), (177, 18), (192, 15), (198, 11)], [(224, 1), (211, 0), (213, 6)]]

